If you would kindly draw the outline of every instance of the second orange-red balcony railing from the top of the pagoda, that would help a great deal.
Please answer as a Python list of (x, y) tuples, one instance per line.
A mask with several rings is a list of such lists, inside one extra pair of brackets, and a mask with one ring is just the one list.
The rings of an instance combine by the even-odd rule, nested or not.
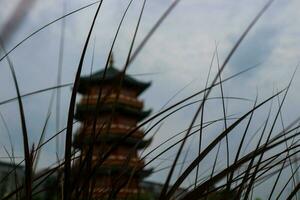
[[(135, 127), (128, 126), (125, 124), (111, 124), (110, 127), (108, 128), (108, 125), (106, 124), (96, 124), (96, 134), (100, 132), (105, 133), (109, 132), (112, 134), (120, 134), (120, 135), (125, 135), (126, 133), (129, 133), (131, 130), (133, 130)], [(91, 134), (93, 132), (93, 126), (88, 126), (88, 127), (81, 127), (80, 132), (85, 132), (88, 134)], [(143, 131), (137, 130), (134, 133), (132, 133), (132, 137), (136, 138), (143, 138), (144, 134)]]

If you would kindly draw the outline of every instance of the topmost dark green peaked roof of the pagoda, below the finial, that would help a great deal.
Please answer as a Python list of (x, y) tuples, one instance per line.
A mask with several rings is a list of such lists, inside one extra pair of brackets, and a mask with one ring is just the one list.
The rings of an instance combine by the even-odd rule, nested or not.
[[(114, 83), (121, 78), (122, 71), (117, 68), (110, 66), (106, 69), (106, 73), (104, 76), (104, 69), (93, 73), (90, 76), (83, 76), (80, 78), (79, 82), (79, 93), (85, 93), (86, 89), (91, 85), (100, 85), (103, 83)], [(103, 77), (104, 76), (104, 77)], [(118, 83), (118, 82), (117, 82)], [(127, 74), (124, 75), (123, 78), (123, 86), (135, 88), (139, 94), (142, 93), (145, 89), (147, 89), (151, 85), (151, 82), (142, 82), (139, 81)]]

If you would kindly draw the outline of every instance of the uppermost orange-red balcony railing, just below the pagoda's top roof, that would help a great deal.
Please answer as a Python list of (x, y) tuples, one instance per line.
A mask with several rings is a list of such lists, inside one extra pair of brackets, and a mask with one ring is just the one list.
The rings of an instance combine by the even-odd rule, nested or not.
[[(105, 103), (114, 103), (116, 101), (117, 95), (116, 94), (110, 94), (110, 95), (101, 95), (101, 100), (105, 99)], [(98, 95), (91, 95), (91, 96), (84, 96), (81, 100), (81, 104), (97, 104)], [(130, 97), (124, 94), (120, 94), (118, 97), (118, 103), (123, 103), (126, 105), (130, 105), (132, 107), (142, 109), (144, 106), (144, 103), (142, 101), (139, 101), (138, 99), (134, 97)]]

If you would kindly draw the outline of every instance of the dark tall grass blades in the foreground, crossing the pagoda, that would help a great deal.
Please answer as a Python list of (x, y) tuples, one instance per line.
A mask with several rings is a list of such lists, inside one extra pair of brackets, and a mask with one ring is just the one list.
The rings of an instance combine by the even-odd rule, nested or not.
[[(23, 1), (22, 1), (23, 2)], [(115, 42), (119, 36), (119, 31), (124, 23), (124, 19), (126, 18), (129, 8), (132, 5), (133, 0), (128, 2), (128, 5), (124, 9), (124, 13), (120, 22), (117, 26), (117, 29), (114, 33), (112, 44), (107, 53), (106, 62), (104, 66), (104, 75), (103, 77), (99, 77), (104, 79), (106, 76), (106, 71), (109, 66), (109, 62), (112, 58), (112, 52), (115, 48)], [(134, 134), (137, 130), (144, 128), (145, 136), (149, 135), (151, 131), (155, 130), (155, 134), (158, 130), (163, 126), (163, 123), (166, 119), (171, 118), (174, 114), (179, 111), (192, 107), (193, 105), (197, 105), (197, 108), (194, 110), (193, 117), (191, 118), (191, 122), (186, 130), (180, 131), (178, 134), (174, 134), (172, 137), (168, 138), (166, 141), (162, 141), (159, 145), (155, 146), (151, 151), (142, 156), (142, 160), (145, 161), (145, 166), (152, 166), (154, 161), (158, 161), (162, 155), (166, 155), (167, 152), (174, 151), (175, 154), (170, 158), (171, 165), (163, 168), (159, 168), (157, 166), (153, 173), (165, 171), (166, 178), (162, 184), (161, 193), (159, 199), (168, 200), (168, 199), (253, 199), (253, 191), (257, 187), (262, 187), (262, 183), (267, 180), (274, 179), (271, 181), (272, 187), (271, 191), (268, 193), (268, 199), (294, 199), (298, 198), (297, 193), (300, 189), (300, 183), (297, 180), (298, 174), (298, 153), (299, 153), (299, 120), (300, 118), (295, 119), (288, 125), (283, 123), (282, 117), (282, 107), (286, 101), (286, 97), (288, 96), (289, 89), (292, 85), (292, 81), (296, 74), (296, 70), (293, 76), (290, 78), (290, 82), (288, 85), (274, 92), (273, 95), (268, 98), (260, 101), (258, 95), (253, 97), (253, 107), (241, 114), (240, 116), (231, 116), (228, 115), (226, 111), (226, 101), (230, 100), (238, 100), (238, 101), (251, 101), (249, 99), (245, 99), (242, 97), (230, 97), (226, 96), (225, 92), (227, 88), (224, 83), (230, 80), (234, 80), (235, 78), (241, 76), (244, 73), (247, 73), (250, 70), (253, 70), (257, 66), (253, 66), (242, 70), (236, 74), (233, 74), (229, 77), (224, 77), (222, 73), (224, 69), (227, 67), (229, 61), (232, 56), (238, 51), (240, 44), (247, 37), (248, 33), (255, 26), (257, 21), (263, 16), (265, 11), (269, 9), (272, 5), (273, 0), (268, 1), (265, 6), (258, 12), (258, 14), (253, 18), (250, 24), (246, 27), (246, 29), (242, 32), (241, 36), (237, 39), (232, 49), (229, 51), (228, 55), (225, 57), (224, 61), (220, 63), (219, 54), (218, 54), (218, 45), (216, 44), (215, 52), (212, 56), (209, 73), (207, 75), (206, 84), (203, 89), (190, 94), (189, 96), (183, 98), (182, 100), (177, 101), (176, 103), (167, 106), (173, 98), (177, 95), (177, 93), (172, 96), (172, 98), (165, 104), (162, 109), (150, 116), (148, 119), (140, 123), (133, 130), (128, 132), (126, 135), (122, 137), (121, 140), (113, 143), (109, 148), (104, 148), (103, 144), (100, 144), (102, 149), (100, 159), (97, 160), (96, 163), (92, 164), (93, 161), (93, 152), (95, 143), (92, 142), (88, 146), (87, 155), (83, 156), (80, 154), (78, 150), (73, 149), (73, 126), (77, 123), (74, 119), (74, 111), (76, 106), (76, 98), (79, 88), (79, 81), (81, 76), (81, 71), (83, 68), (84, 60), (86, 58), (86, 52), (91, 43), (91, 37), (94, 30), (94, 26), (97, 20), (101, 20), (101, 8), (103, 1), (95, 1), (94, 3), (88, 4), (71, 12), (64, 14), (63, 16), (45, 24), (41, 28), (33, 31), (23, 40), (21, 40), (17, 45), (15, 45), (10, 50), (5, 49), (5, 43), (8, 38), (6, 37), (7, 30), (4, 30), (5, 35), (0, 35), (1, 39), (1, 54), (2, 57), (0, 62), (7, 60), (8, 65), (10, 67), (11, 75), (13, 76), (15, 91), (17, 93), (15, 98), (7, 99), (5, 101), (0, 102), (0, 105), (5, 105), (7, 103), (17, 101), (18, 102), (18, 110), (21, 119), (21, 127), (22, 127), (22, 138), (23, 138), (23, 148), (24, 148), (24, 160), (22, 162), (13, 165), (12, 169), (7, 173), (7, 175), (0, 180), (0, 184), (5, 184), (5, 180), (7, 177), (15, 173), (17, 168), (25, 162), (25, 181), (22, 185), (18, 185), (16, 183), (16, 189), (11, 191), (9, 194), (6, 194), (2, 199), (34, 199), (40, 193), (45, 193), (47, 191), (55, 191), (53, 195), (54, 199), (93, 199), (93, 191), (95, 189), (95, 174), (99, 167), (103, 166), (103, 163), (109, 157), (109, 155), (122, 143), (127, 140), (132, 134)], [(164, 20), (168, 17), (169, 14), (179, 5), (180, 0), (173, 1), (169, 7), (165, 10), (165, 12), (161, 15), (161, 17), (156, 21), (153, 27), (149, 30), (149, 32), (144, 36), (139, 44), (136, 44), (136, 38), (140, 30), (140, 23), (143, 20), (143, 13), (146, 9), (147, 0), (144, 0), (141, 4), (141, 8), (139, 11), (139, 17), (137, 23), (135, 25), (134, 30), (132, 30), (132, 39), (129, 45), (126, 62), (119, 74), (119, 82), (114, 83), (115, 88), (113, 88), (116, 95), (116, 99), (114, 101), (114, 107), (118, 103), (120, 91), (123, 86), (124, 76), (127, 74), (127, 71), (131, 64), (135, 61), (137, 56), (148, 42), (151, 42), (150, 38), (155, 34), (160, 26), (162, 26)], [(15, 73), (15, 69), (13, 66), (13, 62), (10, 59), (10, 54), (16, 50), (19, 46), (25, 43), (27, 40), (34, 39), (33, 36), (39, 34), (40, 31), (46, 29), (48, 26), (55, 24), (61, 20), (65, 20), (65, 18), (75, 15), (77, 12), (84, 10), (91, 6), (97, 6), (96, 12), (94, 13), (93, 20), (88, 30), (88, 34), (86, 36), (84, 46), (82, 47), (82, 53), (80, 55), (79, 63), (76, 70), (76, 75), (74, 77), (73, 83), (62, 84), (62, 60), (64, 56), (64, 24), (62, 25), (62, 34), (60, 38), (60, 49), (59, 49), (59, 61), (58, 61), (58, 73), (57, 73), (57, 85), (40, 89), (37, 91), (33, 91), (26, 94), (21, 94), (18, 85), (18, 78)], [(28, 10), (29, 12), (30, 10)], [(14, 18), (9, 19), (9, 23), (14, 22)], [(18, 25), (18, 24), (17, 24)], [(17, 27), (10, 30), (10, 34), (13, 34), (14, 31), (17, 31)], [(2, 31), (3, 32), (3, 31)], [(1, 32), (0, 32), (1, 33)], [(135, 49), (134, 46), (137, 46)], [(214, 60), (217, 60), (217, 73), (212, 76), (212, 66)], [(93, 67), (93, 66), (92, 66)], [(92, 70), (91, 70), (92, 74)], [(209, 80), (212, 77), (212, 81)], [(67, 86), (72, 87), (72, 94), (69, 99), (69, 109), (68, 109), (68, 120), (64, 125), (64, 128), (59, 130), (60, 127), (60, 89)], [(93, 117), (93, 133), (92, 138), (96, 140), (99, 137), (99, 132), (96, 131), (96, 122), (97, 122), (97, 114), (98, 110), (103, 106), (105, 98), (102, 99), (102, 86), (99, 87), (98, 91), (98, 99), (96, 104), (96, 109)], [(229, 88), (230, 89), (230, 88)], [(27, 130), (27, 122), (26, 122), (26, 113), (23, 109), (23, 99), (40, 94), (43, 92), (52, 92), (51, 100), (48, 107), (48, 113), (43, 124), (43, 130), (40, 133), (40, 139), (38, 144), (33, 145), (30, 148), (30, 144), (28, 142), (28, 137), (30, 137), (30, 133)], [(181, 90), (179, 90), (180, 92)], [(211, 93), (219, 91), (220, 95), (217, 97), (212, 97)], [(51, 115), (51, 108), (54, 104), (54, 95), (56, 94), (56, 132), (49, 139), (44, 138), (45, 130), (49, 123), (49, 118)], [(106, 95), (107, 97), (107, 95)], [(194, 100), (197, 98), (197, 100)], [(192, 101), (193, 100), (193, 101)], [(221, 118), (215, 118), (213, 120), (205, 121), (205, 112), (207, 104), (210, 101), (219, 100), (221, 102)], [(274, 109), (274, 102), (277, 101), (278, 108)], [(260, 125), (254, 124), (255, 114), (261, 110), (269, 107), (269, 112), (267, 113), (266, 118), (262, 121)], [(274, 119), (272, 118), (271, 113), (275, 112)], [(113, 109), (111, 112), (111, 116), (109, 121), (107, 122), (109, 125), (112, 123), (112, 117), (115, 114), (115, 110)], [(197, 124), (197, 120), (200, 118), (200, 123)], [(5, 116), (1, 115), (2, 121), (5, 121)], [(215, 126), (216, 124), (222, 123), (223, 129), (218, 133), (218, 135), (212, 139), (212, 141), (208, 144), (203, 144), (203, 138), (205, 137), (204, 132), (207, 129)], [(246, 124), (246, 126), (243, 126)], [(282, 126), (282, 131), (277, 131), (275, 126), (280, 124)], [(254, 126), (257, 130), (255, 135), (250, 138), (248, 141), (247, 135), (250, 132), (250, 125)], [(107, 126), (109, 127), (109, 126)], [(230, 151), (230, 135), (239, 128), (239, 133), (241, 138), (237, 141), (236, 152)], [(105, 129), (102, 127), (102, 129)], [(7, 128), (8, 130), (8, 128)], [(105, 131), (104, 131), (105, 132)], [(10, 133), (9, 133), (10, 134)], [(58, 137), (65, 137), (64, 144), (64, 158), (59, 160), (57, 159), (57, 163), (55, 166), (49, 166), (49, 169), (46, 171), (42, 171), (40, 173), (36, 173), (37, 163), (40, 159), (39, 152), (40, 150), (52, 140), (57, 140)], [(197, 135), (199, 140), (197, 141), (197, 150), (198, 154), (192, 160), (189, 160), (189, 148), (187, 151), (184, 151), (184, 147), (187, 146), (188, 140)], [(10, 137), (10, 135), (9, 135)], [(158, 136), (157, 136), (158, 137)], [(253, 139), (254, 137), (258, 137), (258, 142)], [(11, 138), (10, 138), (11, 140)], [(221, 144), (225, 142), (225, 158), (226, 164), (218, 163), (220, 159), (220, 151), (223, 149)], [(170, 144), (171, 143), (171, 144)], [(253, 143), (253, 147), (250, 148)], [(57, 149), (60, 148), (57, 142)], [(14, 162), (15, 155), (13, 151), (13, 144), (10, 144), (12, 153), (9, 154), (9, 157)], [(131, 176), (129, 178), (126, 177), (126, 172), (128, 171), (128, 160), (132, 157), (132, 152), (137, 149), (138, 144), (131, 148), (131, 152), (129, 152), (126, 162), (124, 162), (123, 168), (124, 172), (119, 174), (115, 181), (116, 187), (110, 191), (109, 195), (106, 197), (102, 197), (104, 199), (115, 199), (117, 197), (118, 192), (121, 188), (126, 187), (132, 181), (132, 176), (135, 172), (143, 170), (143, 168), (135, 167), (131, 171)], [(284, 146), (284, 148), (280, 148)], [(245, 152), (245, 149), (249, 149), (248, 152)], [(58, 150), (57, 150), (58, 151)], [(202, 163), (205, 159), (207, 159), (212, 153), (215, 153), (216, 156), (213, 159), (212, 165), (209, 166), (208, 170), (202, 169)], [(154, 154), (156, 153), (156, 154)], [(184, 158), (183, 162), (180, 162), (180, 158)], [(232, 161), (230, 158), (234, 158)], [(94, 161), (93, 161), (94, 162)], [(78, 171), (74, 171), (72, 168), (72, 164), (79, 163), (77, 166)], [(187, 165), (187, 167), (185, 167)], [(293, 166), (295, 165), (295, 166)], [(283, 182), (281, 177), (283, 176), (283, 172), (285, 169), (290, 169), (291, 173), (289, 173), (289, 179), (287, 182)], [(179, 173), (176, 176), (175, 172), (179, 169)], [(75, 173), (76, 172), (76, 173)], [(81, 174), (84, 173), (84, 176)], [(49, 181), (50, 177), (55, 176), (55, 183), (52, 184), (52, 187), (42, 187), (42, 185), (46, 184)], [(189, 177), (193, 177), (193, 181), (190, 182), (190, 185), (184, 184), (188, 182)], [(125, 180), (125, 181), (121, 181)], [(280, 182), (280, 184), (279, 184)], [(288, 185), (291, 185), (292, 188), (288, 188)], [(280, 188), (279, 188), (280, 187)], [(180, 188), (184, 188), (184, 191), (179, 190)], [(279, 188), (279, 189), (278, 189)], [(178, 193), (178, 191), (181, 191)], [(280, 191), (279, 193), (275, 193), (275, 191)], [(266, 191), (267, 192), (267, 191)], [(286, 195), (286, 197), (283, 197)], [(101, 197), (100, 197), (101, 198)], [(128, 197), (129, 199), (130, 197)], [(137, 199), (141, 197), (136, 197)]]

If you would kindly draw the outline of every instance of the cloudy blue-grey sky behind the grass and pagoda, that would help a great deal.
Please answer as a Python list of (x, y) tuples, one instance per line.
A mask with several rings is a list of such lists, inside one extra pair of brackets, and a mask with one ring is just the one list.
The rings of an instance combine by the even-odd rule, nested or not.
[[(11, 49), (33, 31), (60, 17), (64, 13), (64, 7), (66, 12), (70, 12), (90, 2), (92, 1), (36, 0), (33, 7), (25, 13), (18, 29), (12, 33), (8, 40), (4, 41), (6, 49)], [(142, 41), (171, 2), (170, 0), (147, 1), (134, 48)], [(19, 0), (0, 1), (0, 30), (18, 3)], [(150, 38), (128, 69), (128, 73), (139, 80), (152, 82), (151, 87), (141, 96), (146, 109), (151, 108), (152, 113), (155, 114), (167, 102), (168, 105), (172, 105), (203, 89), (216, 47), (219, 62), (223, 63), (239, 36), (265, 3), (265, 0), (182, 0)], [(85, 57), (83, 75), (90, 71), (94, 45), (93, 71), (103, 68), (113, 35), (127, 4), (127, 0), (104, 0)], [(117, 38), (114, 57), (115, 64), (119, 69), (126, 61), (141, 6), (142, 1), (133, 1)], [(226, 101), (228, 115), (240, 116), (253, 106), (256, 95), (258, 95), (258, 100), (262, 101), (289, 83), (299, 63), (299, 6), (300, 2), (296, 0), (275, 1), (232, 56), (222, 73), (222, 78), (229, 77), (251, 66), (257, 65), (258, 67), (224, 83), (225, 96), (247, 99)], [(74, 81), (76, 68), (95, 11), (96, 5), (65, 19), (62, 83)], [(10, 54), (22, 94), (56, 84), (61, 27), (61, 21), (47, 27)], [(214, 59), (211, 77), (216, 72), (217, 61)], [(299, 116), (299, 75), (297, 71), (286, 103), (282, 108), (284, 124), (288, 124)], [(209, 80), (211, 82), (212, 78)], [(0, 85), (0, 101), (16, 96), (12, 76), (5, 60), (0, 62)], [(181, 90), (182, 88), (184, 89)], [(61, 91), (60, 128), (64, 128), (71, 87), (63, 88)], [(169, 101), (178, 91), (180, 92)], [(23, 99), (31, 143), (36, 144), (39, 139), (51, 95), (52, 92), (47, 92)], [(220, 89), (213, 90), (211, 96), (219, 97)], [(78, 98), (80, 99), (80, 96)], [(274, 104), (277, 105), (277, 103)], [(196, 112), (197, 105), (183, 109), (167, 118), (147, 151), (174, 134), (187, 129)], [(267, 110), (268, 107), (255, 114), (254, 123), (250, 126), (251, 134), (265, 120)], [(0, 105), (0, 112), (12, 134), (15, 154), (22, 156), (22, 137), (17, 103)], [(55, 106), (53, 106), (49, 126), (46, 130), (46, 138), (51, 137), (56, 132), (55, 116)], [(205, 108), (205, 121), (221, 117), (221, 101), (209, 101)], [(204, 144), (208, 144), (223, 128), (223, 124), (219, 124), (205, 130)], [(282, 127), (276, 128), (279, 130)], [(9, 148), (9, 140), (3, 122), (0, 123), (0, 130), (0, 145), (3, 147), (0, 150), (0, 155), (5, 157), (7, 155), (4, 146)], [(238, 130), (240, 129), (237, 129), (236, 132), (239, 132)], [(151, 132), (151, 134), (153, 133)], [(230, 148), (234, 152), (239, 135), (234, 132), (231, 137)], [(63, 142), (63, 138), (61, 140)], [(197, 137), (193, 137), (187, 141), (188, 145), (184, 148), (184, 152), (188, 152), (187, 160), (193, 159), (197, 154), (197, 140)], [(253, 142), (251, 145), (254, 146), (255, 143)], [(221, 149), (225, 150), (224, 147), (222, 144)], [(63, 149), (62, 145), (61, 149)], [(157, 160), (151, 167), (157, 169), (170, 165), (170, 159), (172, 156), (174, 157), (175, 152), (176, 149), (171, 150), (161, 158), (167, 161), (160, 164)], [(221, 154), (224, 154), (224, 151), (221, 151)], [(62, 151), (60, 155), (63, 155)], [(214, 155), (212, 153), (204, 161), (203, 169), (211, 166), (209, 160)], [(5, 158), (3, 159), (5, 160)], [(39, 169), (47, 167), (55, 163), (55, 160), (55, 143), (52, 142), (43, 149), (38, 167)], [(225, 159), (220, 159), (218, 163), (224, 164)], [(159, 167), (157, 167), (158, 165)], [(176, 173), (179, 173), (178, 170), (180, 171), (180, 167)], [(162, 171), (153, 174), (150, 179), (162, 182), (164, 180), (162, 177), (165, 176), (166, 171)], [(185, 184), (188, 185), (188, 182)], [(264, 197), (262, 190), (258, 189), (256, 192), (257, 196)]]

